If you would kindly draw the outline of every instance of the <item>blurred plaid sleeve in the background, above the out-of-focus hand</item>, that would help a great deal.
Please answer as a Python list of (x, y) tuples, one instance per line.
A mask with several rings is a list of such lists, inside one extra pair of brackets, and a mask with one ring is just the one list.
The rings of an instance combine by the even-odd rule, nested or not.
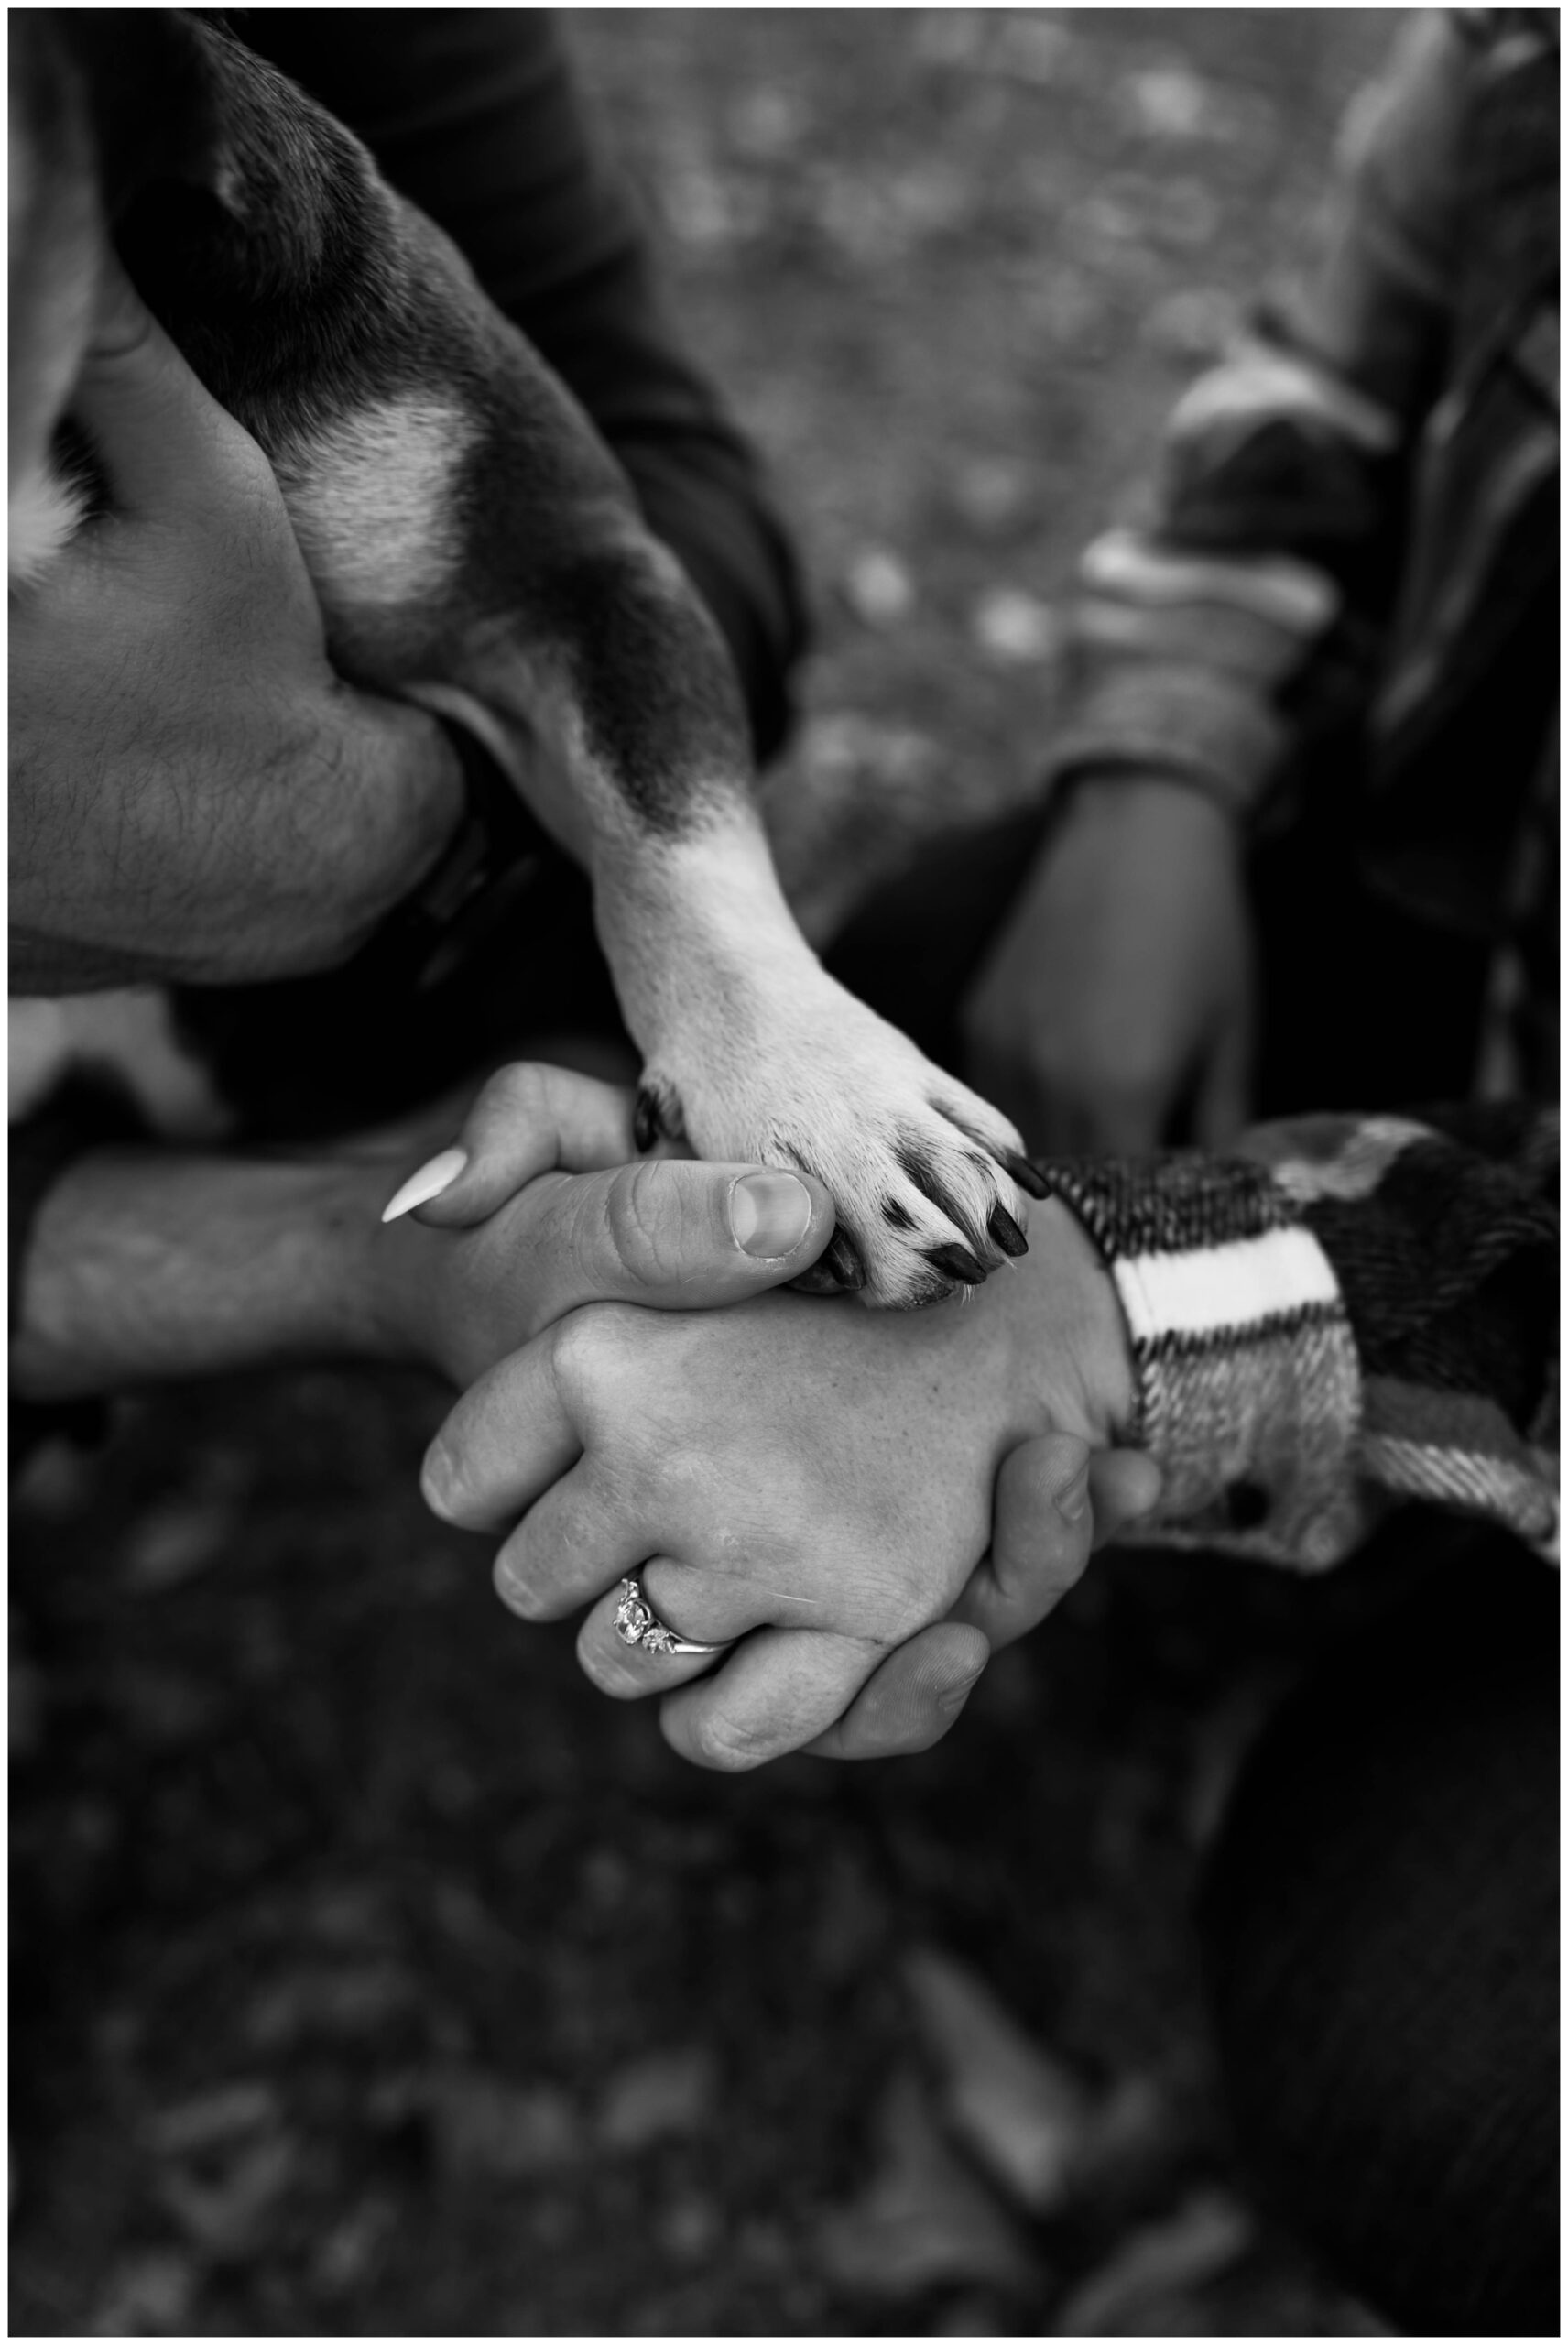
[(1364, 706), (1451, 314), (1472, 66), (1411, 12), (1350, 108), (1310, 274), (1170, 417), (1139, 525), (1083, 556), (1050, 776), (1165, 772), (1249, 816)]

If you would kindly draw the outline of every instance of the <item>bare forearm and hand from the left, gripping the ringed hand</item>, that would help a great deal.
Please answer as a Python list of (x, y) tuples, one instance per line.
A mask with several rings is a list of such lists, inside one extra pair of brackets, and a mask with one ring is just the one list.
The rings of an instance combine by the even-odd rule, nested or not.
[[(45, 1191), (21, 1257), (14, 1395), (80, 1400), (291, 1360), (394, 1360), (464, 1384), (530, 1337), (548, 1341), (541, 1330), (591, 1318), (588, 1306), (640, 1304), (623, 1316), (668, 1311), (715, 1327), (691, 1306), (745, 1304), (799, 1276), (832, 1233), (827, 1198), (792, 1172), (626, 1163), (630, 1095), (558, 1067), (506, 1069), (469, 1114), (469, 1194), (523, 1182), (497, 1212), (473, 1229), (382, 1226), (396, 1172), (452, 1121), (420, 1119), (330, 1154), (101, 1147), (75, 1158)], [(441, 1168), (455, 1187), (450, 1154), (438, 1187)], [(837, 1306), (809, 1309), (825, 1334), (841, 1327)], [(518, 1428), (523, 1445), (527, 1433)], [(504, 1473), (504, 1419), (490, 1421), (490, 1440), (499, 1449), (480, 1442), (476, 1456)], [(1083, 1569), (1085, 1456), (1071, 1437), (1036, 1445), (1013, 1529), (998, 1524), (961, 1611), (863, 1672), (851, 1707), (823, 1719), (818, 1749), (893, 1756), (947, 1731), (989, 1644), (1022, 1634)], [(1090, 1461), (1102, 1529), (1118, 1520), (1118, 1463), (1141, 1461)], [(776, 1707), (766, 1672), (762, 1702)]]

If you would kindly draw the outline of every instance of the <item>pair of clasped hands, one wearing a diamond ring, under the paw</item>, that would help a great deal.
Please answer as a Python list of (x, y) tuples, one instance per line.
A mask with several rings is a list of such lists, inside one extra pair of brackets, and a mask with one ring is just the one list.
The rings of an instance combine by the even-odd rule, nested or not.
[[(591, 1606), (588, 1677), (616, 1698), (663, 1695), (666, 1738), (703, 1766), (926, 1747), (991, 1644), (1080, 1573), (1095, 1529), (1153, 1503), (1148, 1459), (1113, 1447), (1132, 1391), (1095, 1248), (1050, 1201), (1031, 1252), (966, 1304), (905, 1316), (759, 1292), (827, 1243), (816, 1184), (696, 1163), (612, 1170), (626, 1097), (539, 1081), (513, 1069), (490, 1086), (462, 1133), (464, 1170), (420, 1208), (448, 1248), (506, 1231), (516, 1252), (539, 1212), (574, 1231), (563, 1309), (534, 1313), (431, 1445), (431, 1508), (502, 1536), (497, 1590), (523, 1618)], [(506, 1135), (530, 1083), (534, 1144), (518, 1154)], [(546, 1172), (541, 1112), (555, 1123)], [(736, 1187), (757, 1180), (785, 1208), (771, 1252), (736, 1236)], [(804, 1208), (792, 1226), (790, 1187)], [(743, 1226), (773, 1245), (750, 1205)], [(616, 1590), (633, 1573), (682, 1637), (734, 1649), (621, 1644)]]

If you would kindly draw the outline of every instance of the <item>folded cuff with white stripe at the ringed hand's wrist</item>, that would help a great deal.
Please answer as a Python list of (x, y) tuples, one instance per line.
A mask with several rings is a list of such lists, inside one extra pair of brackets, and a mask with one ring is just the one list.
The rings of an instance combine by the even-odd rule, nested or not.
[(1261, 1165), (1043, 1163), (1127, 1316), (1160, 1536), (1320, 1571), (1364, 1531), (1362, 1374), (1329, 1257)]

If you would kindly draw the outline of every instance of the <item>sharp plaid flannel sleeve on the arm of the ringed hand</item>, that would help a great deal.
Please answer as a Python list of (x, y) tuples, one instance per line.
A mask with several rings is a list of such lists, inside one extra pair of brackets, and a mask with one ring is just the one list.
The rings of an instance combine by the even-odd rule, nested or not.
[(1111, 1264), (1160, 1536), (1298, 1569), (1425, 1498), (1556, 1538), (1556, 1114), (1313, 1116), (1041, 1170)]

